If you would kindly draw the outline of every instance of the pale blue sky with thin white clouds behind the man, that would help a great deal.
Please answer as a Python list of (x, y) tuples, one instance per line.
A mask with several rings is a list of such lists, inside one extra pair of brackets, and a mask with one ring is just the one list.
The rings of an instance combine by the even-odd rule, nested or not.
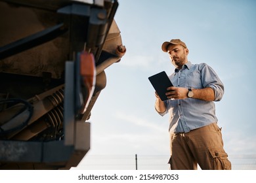
[[(255, 8), (253, 0), (119, 0), (115, 20), (127, 52), (105, 70), (107, 85), (89, 120), (91, 150), (77, 168), (131, 169), (138, 154), (167, 169), (169, 116), (154, 110), (148, 76), (173, 73), (161, 44), (177, 38), (189, 61), (209, 64), (224, 83), (215, 104), (226, 152), (256, 154)], [(157, 168), (147, 163), (144, 169)]]

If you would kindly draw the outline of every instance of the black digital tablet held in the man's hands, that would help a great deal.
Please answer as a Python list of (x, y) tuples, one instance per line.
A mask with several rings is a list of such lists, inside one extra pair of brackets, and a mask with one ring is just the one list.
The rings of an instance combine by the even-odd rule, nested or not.
[(150, 80), (152, 86), (158, 93), (160, 99), (162, 101), (166, 101), (167, 100), (167, 96), (165, 95), (165, 93), (167, 92), (166, 89), (170, 86), (173, 86), (173, 84), (171, 83), (171, 80), (169, 79), (165, 71), (162, 71), (161, 73), (150, 76), (148, 77), (148, 79)]

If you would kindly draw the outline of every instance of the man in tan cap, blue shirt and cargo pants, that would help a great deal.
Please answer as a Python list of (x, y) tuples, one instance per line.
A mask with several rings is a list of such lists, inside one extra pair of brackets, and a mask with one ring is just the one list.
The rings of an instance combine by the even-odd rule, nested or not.
[(223, 97), (223, 83), (207, 64), (188, 61), (188, 48), (180, 39), (163, 42), (161, 49), (176, 68), (169, 76), (168, 100), (156, 93), (155, 104), (161, 116), (170, 115), (171, 169), (231, 169), (213, 102)]

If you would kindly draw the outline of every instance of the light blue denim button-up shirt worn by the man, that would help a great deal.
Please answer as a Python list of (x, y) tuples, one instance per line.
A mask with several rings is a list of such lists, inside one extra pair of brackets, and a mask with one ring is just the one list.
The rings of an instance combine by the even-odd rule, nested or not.
[[(220, 101), (224, 94), (224, 86), (215, 71), (206, 63), (192, 64), (190, 61), (181, 70), (169, 76), (173, 86), (200, 89), (213, 88), (215, 101)], [(215, 103), (200, 99), (177, 99), (165, 101), (165, 112), (158, 112), (161, 116), (169, 112), (169, 132), (186, 133), (205, 125), (217, 122)]]

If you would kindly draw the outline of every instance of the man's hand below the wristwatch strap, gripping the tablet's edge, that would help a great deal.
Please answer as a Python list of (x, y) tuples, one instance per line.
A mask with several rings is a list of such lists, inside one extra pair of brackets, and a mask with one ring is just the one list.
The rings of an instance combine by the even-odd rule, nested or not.
[(167, 88), (167, 90), (171, 90), (165, 95), (168, 99), (186, 99), (188, 98), (188, 88), (177, 88), (175, 86), (171, 86)]

